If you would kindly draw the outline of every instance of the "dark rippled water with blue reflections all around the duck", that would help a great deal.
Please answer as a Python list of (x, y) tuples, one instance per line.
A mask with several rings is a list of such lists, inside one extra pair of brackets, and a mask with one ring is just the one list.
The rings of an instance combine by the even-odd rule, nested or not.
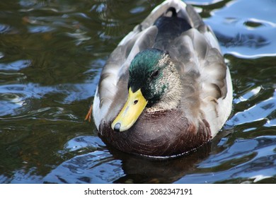
[(212, 143), (149, 161), (84, 117), (108, 54), (161, 1), (0, 1), (0, 183), (276, 183), (276, 1), (187, 2), (219, 37), (234, 110)]

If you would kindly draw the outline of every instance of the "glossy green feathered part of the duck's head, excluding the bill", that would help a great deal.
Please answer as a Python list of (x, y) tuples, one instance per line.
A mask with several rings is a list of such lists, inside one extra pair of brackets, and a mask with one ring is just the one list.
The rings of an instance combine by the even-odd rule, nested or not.
[(169, 63), (168, 53), (149, 49), (139, 52), (130, 64), (128, 87), (132, 92), (141, 89), (147, 106), (157, 103), (166, 93), (170, 79), (164, 73)]

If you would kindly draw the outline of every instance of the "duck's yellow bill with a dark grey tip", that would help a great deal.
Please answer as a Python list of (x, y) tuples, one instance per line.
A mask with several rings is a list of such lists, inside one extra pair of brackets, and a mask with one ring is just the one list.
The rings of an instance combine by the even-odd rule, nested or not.
[(124, 132), (130, 129), (137, 121), (139, 115), (141, 115), (147, 103), (148, 101), (144, 98), (141, 89), (133, 93), (130, 88), (127, 103), (125, 103), (125, 106), (122, 107), (119, 115), (117, 115), (111, 124), (112, 129), (117, 132)]

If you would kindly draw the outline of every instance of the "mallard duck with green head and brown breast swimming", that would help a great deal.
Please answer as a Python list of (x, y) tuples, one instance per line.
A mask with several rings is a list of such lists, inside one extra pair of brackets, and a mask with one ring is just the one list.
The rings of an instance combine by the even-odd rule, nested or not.
[(231, 104), (231, 76), (214, 33), (192, 6), (167, 0), (110, 54), (93, 120), (120, 151), (179, 156), (210, 141)]

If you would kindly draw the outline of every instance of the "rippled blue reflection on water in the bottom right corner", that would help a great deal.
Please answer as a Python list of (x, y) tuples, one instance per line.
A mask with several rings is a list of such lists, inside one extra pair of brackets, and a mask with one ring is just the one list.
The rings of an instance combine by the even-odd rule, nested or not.
[[(198, 168), (209, 171), (185, 175), (176, 183), (231, 182), (236, 178), (240, 178), (241, 182), (258, 182), (276, 177), (275, 145), (276, 136), (237, 139), (236, 143), (223, 152), (198, 164)], [(228, 165), (224, 166), (225, 164)]]

